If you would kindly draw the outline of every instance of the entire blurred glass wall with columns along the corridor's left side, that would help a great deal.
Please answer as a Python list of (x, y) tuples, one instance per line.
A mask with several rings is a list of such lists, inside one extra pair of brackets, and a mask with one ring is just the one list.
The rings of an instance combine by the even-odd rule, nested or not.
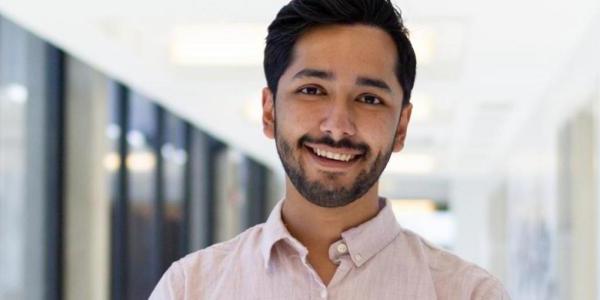
[(147, 299), (173, 261), (264, 221), (273, 178), (0, 19), (0, 299)]

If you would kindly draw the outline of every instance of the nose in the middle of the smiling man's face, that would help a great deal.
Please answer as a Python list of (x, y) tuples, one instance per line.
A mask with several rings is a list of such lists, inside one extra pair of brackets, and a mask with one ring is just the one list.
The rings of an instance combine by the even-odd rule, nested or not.
[(332, 101), (325, 118), (321, 121), (321, 132), (336, 141), (356, 134), (354, 116), (346, 101)]

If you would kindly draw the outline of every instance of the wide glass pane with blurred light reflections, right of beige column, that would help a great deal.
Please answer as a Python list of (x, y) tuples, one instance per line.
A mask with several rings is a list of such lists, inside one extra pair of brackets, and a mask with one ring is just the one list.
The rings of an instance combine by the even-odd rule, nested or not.
[(153, 145), (159, 142), (159, 109), (149, 99), (131, 93), (127, 131), (128, 192), (128, 299), (140, 299), (150, 294), (160, 276), (159, 220), (156, 218), (158, 155)]

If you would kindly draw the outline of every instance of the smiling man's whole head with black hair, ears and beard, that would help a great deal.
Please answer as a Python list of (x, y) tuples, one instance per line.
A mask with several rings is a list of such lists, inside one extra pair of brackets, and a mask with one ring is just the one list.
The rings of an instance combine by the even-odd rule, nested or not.
[(389, 0), (293, 0), (269, 26), (265, 134), (323, 207), (372, 189), (404, 145), (416, 59)]

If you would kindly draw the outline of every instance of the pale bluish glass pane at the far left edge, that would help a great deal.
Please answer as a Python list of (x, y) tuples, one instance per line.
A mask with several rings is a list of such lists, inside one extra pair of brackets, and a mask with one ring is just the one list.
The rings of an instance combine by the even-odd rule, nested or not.
[(0, 298), (60, 297), (62, 79), (56, 48), (0, 18)]

